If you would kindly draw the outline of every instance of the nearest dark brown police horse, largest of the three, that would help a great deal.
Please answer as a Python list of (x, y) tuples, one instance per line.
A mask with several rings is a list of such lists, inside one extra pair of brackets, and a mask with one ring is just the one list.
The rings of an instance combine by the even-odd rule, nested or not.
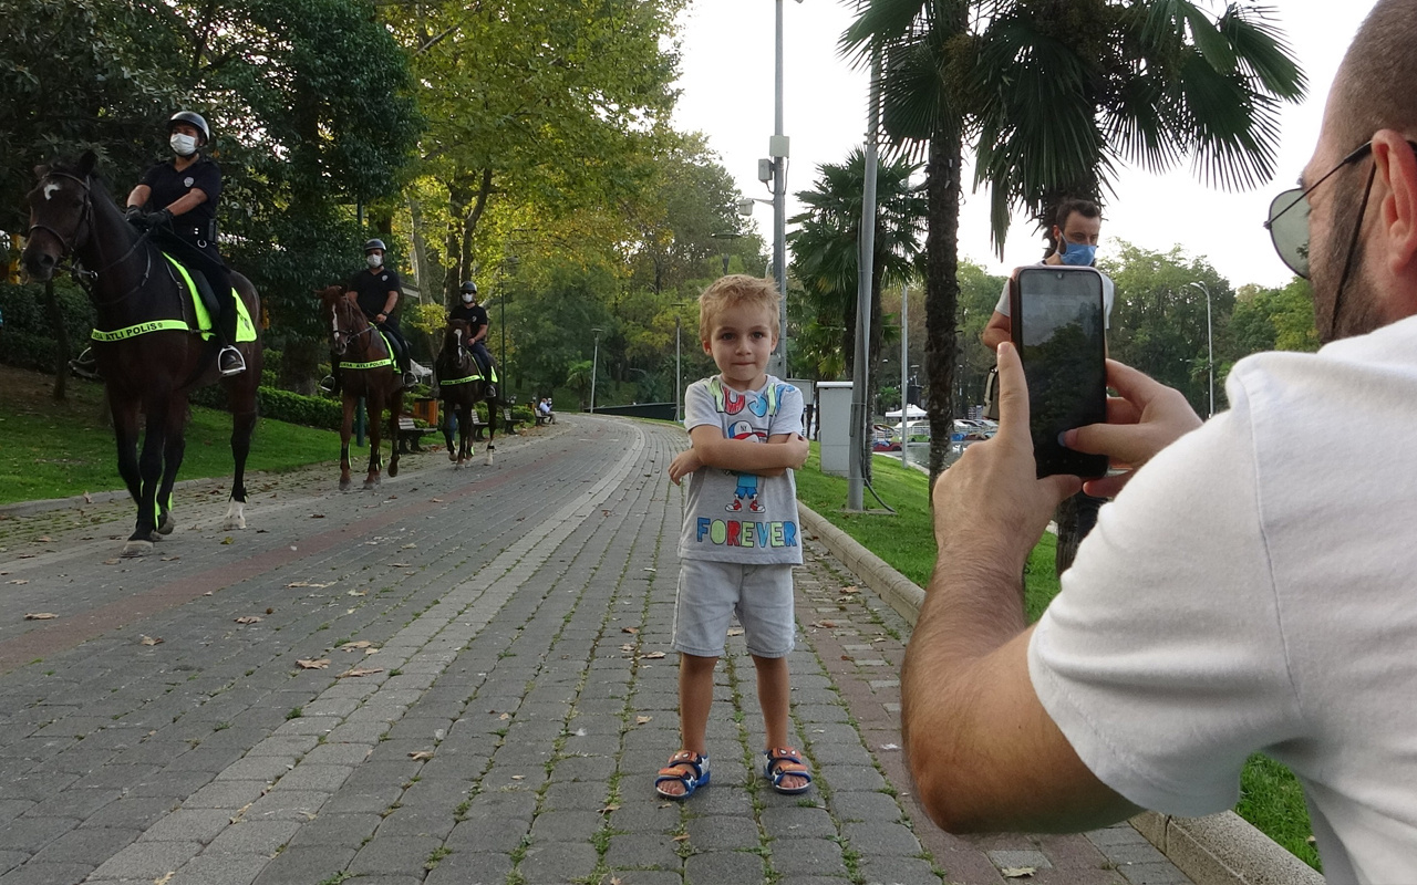
[[(215, 338), (187, 329), (194, 316), (187, 285), (169, 259), (123, 221), (113, 198), (94, 176), (95, 156), (77, 164), (37, 167), (30, 191), (30, 242), (24, 266), (37, 280), (50, 279), (71, 258), (74, 276), (98, 313), (94, 355), (108, 389), (118, 439), (118, 473), (137, 504), (137, 524), (125, 556), (152, 552), (153, 541), (171, 532), (171, 493), (186, 447), (187, 396), (218, 379), (231, 402), (231, 455), (235, 476), (224, 528), (245, 528), (245, 469), (256, 422), (261, 341), (238, 344), (247, 371), (217, 374)], [(251, 280), (231, 282), (248, 316), (261, 316)], [(259, 324), (254, 324), (259, 337)], [(146, 418), (137, 453), (139, 415)]]

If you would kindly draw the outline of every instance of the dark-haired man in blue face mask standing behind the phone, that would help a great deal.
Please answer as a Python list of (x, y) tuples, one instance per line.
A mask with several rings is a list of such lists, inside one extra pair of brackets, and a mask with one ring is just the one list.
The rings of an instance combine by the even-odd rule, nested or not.
[[(1044, 265), (1074, 265), (1093, 266), (1097, 258), (1097, 239), (1102, 231), (1102, 211), (1091, 200), (1064, 200), (1054, 211), (1050, 239), (1056, 244), (1043, 258)], [(1115, 297), (1112, 278), (1102, 273), (1102, 321), (1111, 326), (1112, 299)], [(983, 344), (989, 350), (998, 350), (999, 344), (1007, 341), (1012, 333), (1009, 321), (1009, 285), (1003, 285), (1003, 295), (999, 304), (989, 317), (989, 324), (983, 329)], [(986, 418), (999, 418), (998, 395), (986, 396), (989, 409)], [(1090, 494), (1078, 493), (1058, 507), (1058, 545), (1056, 568), (1061, 575), (1073, 565), (1073, 554), (1083, 538), (1093, 531), (1097, 524), (1097, 511), (1101, 510), (1105, 498), (1095, 498)]]

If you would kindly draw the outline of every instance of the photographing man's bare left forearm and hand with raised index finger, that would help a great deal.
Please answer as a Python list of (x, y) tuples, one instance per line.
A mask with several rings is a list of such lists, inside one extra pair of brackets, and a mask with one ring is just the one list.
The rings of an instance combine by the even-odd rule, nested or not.
[(1077, 477), (1034, 479), (1027, 388), (999, 353), (999, 433), (934, 491), (939, 558), (901, 674), (901, 729), (921, 800), (951, 831), (1078, 830), (1135, 807), (1100, 782), (1029, 677), (1020, 575)]

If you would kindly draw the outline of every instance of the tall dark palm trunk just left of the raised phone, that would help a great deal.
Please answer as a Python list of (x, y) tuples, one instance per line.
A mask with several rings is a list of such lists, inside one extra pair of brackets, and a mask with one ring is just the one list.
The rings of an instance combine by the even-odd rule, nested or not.
[[(925, 234), (925, 395), (930, 402), (930, 487), (945, 469), (954, 430), (955, 313), (959, 302), (959, 154), (958, 125), (942, 115), (930, 139)], [(904, 421), (904, 418), (901, 419)]]

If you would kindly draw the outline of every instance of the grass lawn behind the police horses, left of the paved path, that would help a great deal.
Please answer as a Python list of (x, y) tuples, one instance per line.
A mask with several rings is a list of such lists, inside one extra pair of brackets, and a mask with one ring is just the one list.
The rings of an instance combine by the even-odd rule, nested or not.
[[(68, 401), (50, 398), (52, 375), (0, 367), (0, 504), (122, 489), (102, 385), (71, 378)], [(259, 419), (247, 470), (290, 470), (336, 460), (339, 433)], [(179, 480), (231, 476), (231, 415), (193, 408)]]

